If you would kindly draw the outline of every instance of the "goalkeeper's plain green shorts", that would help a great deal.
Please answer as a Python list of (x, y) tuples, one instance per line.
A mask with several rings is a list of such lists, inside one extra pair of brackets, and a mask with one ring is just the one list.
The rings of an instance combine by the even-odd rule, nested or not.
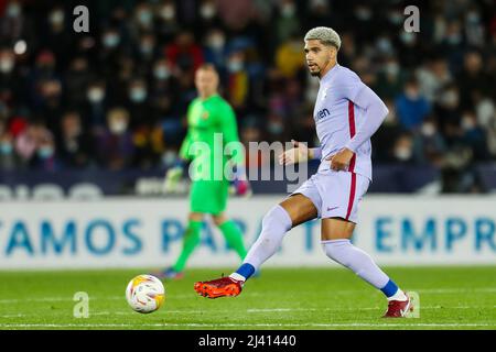
[(227, 180), (197, 180), (191, 185), (190, 207), (192, 212), (218, 215), (226, 210), (229, 196)]

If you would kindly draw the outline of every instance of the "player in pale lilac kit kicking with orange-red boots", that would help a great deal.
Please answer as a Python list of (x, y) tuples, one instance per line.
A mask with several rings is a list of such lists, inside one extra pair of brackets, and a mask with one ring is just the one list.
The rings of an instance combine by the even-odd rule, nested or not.
[(384, 317), (403, 317), (410, 309), (410, 298), (349, 241), (358, 205), (371, 180), (370, 136), (388, 109), (354, 72), (337, 64), (341, 38), (334, 30), (314, 28), (304, 43), (310, 74), (320, 79), (313, 116), (321, 146), (308, 148), (293, 141), (293, 148), (280, 155), (279, 162), (289, 165), (319, 158), (319, 169), (266, 213), (258, 240), (235, 273), (195, 283), (194, 288), (208, 298), (239, 295), (254, 272), (277, 252), (289, 230), (321, 218), (324, 253), (384, 293), (389, 301)]

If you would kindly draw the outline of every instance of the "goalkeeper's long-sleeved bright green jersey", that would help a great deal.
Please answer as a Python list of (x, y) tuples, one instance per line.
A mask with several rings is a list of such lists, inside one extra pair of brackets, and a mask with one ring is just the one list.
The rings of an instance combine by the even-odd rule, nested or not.
[(244, 164), (236, 116), (218, 94), (204, 100), (196, 98), (190, 103), (187, 127), (180, 156), (192, 161), (193, 182), (225, 182), (224, 170), (228, 161), (236, 165)]

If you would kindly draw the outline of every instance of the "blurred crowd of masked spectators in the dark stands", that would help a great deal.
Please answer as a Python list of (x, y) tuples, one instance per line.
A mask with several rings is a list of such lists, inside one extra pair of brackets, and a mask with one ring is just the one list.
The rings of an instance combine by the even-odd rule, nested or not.
[[(218, 67), (248, 141), (316, 143), (319, 81), (302, 37), (342, 36), (341, 65), (387, 103), (376, 163), (470, 168), (496, 158), (496, 8), (414, 1), (0, 0), (0, 169), (166, 167), (185, 134), (193, 74)], [(265, 163), (250, 158), (250, 164)]]

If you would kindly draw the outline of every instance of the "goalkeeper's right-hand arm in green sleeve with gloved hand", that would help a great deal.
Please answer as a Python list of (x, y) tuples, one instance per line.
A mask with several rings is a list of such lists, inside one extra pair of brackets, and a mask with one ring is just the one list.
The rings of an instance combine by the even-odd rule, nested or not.
[(239, 196), (249, 195), (250, 185), (246, 176), (245, 148), (239, 141), (236, 114), (228, 103), (223, 105), (219, 118), (224, 145), (230, 154), (229, 163), (231, 163), (233, 167), (233, 193)]

